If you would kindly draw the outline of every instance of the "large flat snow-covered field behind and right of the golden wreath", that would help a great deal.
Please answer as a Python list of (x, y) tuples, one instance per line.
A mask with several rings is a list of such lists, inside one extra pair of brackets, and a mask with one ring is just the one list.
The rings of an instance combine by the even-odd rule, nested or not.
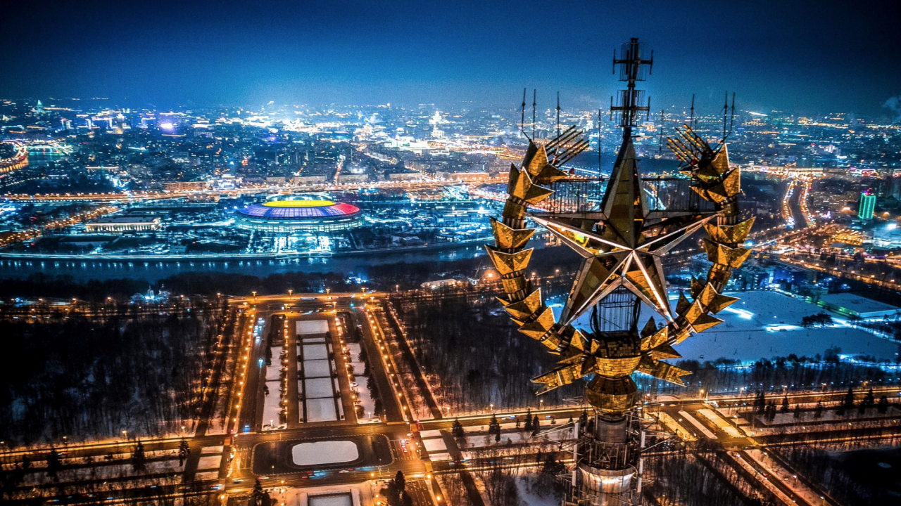
[[(805, 316), (826, 312), (823, 308), (806, 303), (804, 300), (771, 291), (731, 293), (740, 300), (716, 317), (724, 320), (716, 327), (692, 336), (676, 347), (687, 359), (715, 360), (730, 358), (755, 361), (760, 358), (798, 357), (823, 355), (826, 348), (842, 348), (842, 355), (871, 355), (878, 358), (895, 358), (898, 345), (887, 339), (880, 339), (866, 330), (854, 329), (837, 314), (833, 316), (836, 325), (828, 328), (805, 329), (801, 319)], [(678, 293), (669, 294), (669, 302), (675, 310)], [(560, 304), (551, 304), (556, 315), (560, 315)], [(639, 327), (651, 316), (642, 307)], [(654, 313), (658, 325), (660, 316)], [(588, 326), (588, 316), (583, 315), (577, 325)]]

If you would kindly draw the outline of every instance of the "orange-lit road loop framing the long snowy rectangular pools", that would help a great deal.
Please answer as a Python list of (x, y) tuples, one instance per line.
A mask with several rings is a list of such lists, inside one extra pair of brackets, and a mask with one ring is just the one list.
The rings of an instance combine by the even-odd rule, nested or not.
[[(396, 365), (390, 354), (384, 351), (385, 332), (378, 323), (378, 318), (372, 314), (373, 311), (380, 311), (377, 297), (383, 295), (368, 293), (364, 297), (361, 293), (298, 294), (289, 297), (251, 296), (232, 301), (239, 307), (255, 307), (257, 318), (266, 321), (267, 327), (262, 333), (263, 342), (245, 350), (250, 351), (251, 364), (260, 359), (265, 361), (265, 339), (268, 336), (278, 336), (285, 340), (286, 348), (294, 349), (296, 338), (293, 329), (296, 321), (328, 321), (331, 349), (335, 350), (343, 348), (344, 339), (350, 339), (351, 332), (359, 333), (360, 345), (367, 350), (369, 369), (376, 380), (385, 414), (382, 423), (356, 423), (346, 363), (341, 353), (334, 353), (331, 356), (334, 369), (332, 378), (340, 387), (338, 402), (341, 402), (345, 420), (304, 423), (298, 420), (296, 409), (289, 408), (287, 429), (261, 432), (259, 429), (263, 423), (268, 423), (261, 420), (262, 384), (265, 381), (266, 367), (258, 367), (248, 378), (246, 385), (246, 392), (254, 393), (256, 402), (244, 403), (237, 423), (241, 433), (236, 434), (232, 446), (224, 450), (226, 455), (233, 454), (234, 457), (225, 471), (223, 492), (227, 495), (247, 493), (257, 478), (265, 487), (311, 487), (363, 483), (373, 478), (378, 479), (378, 475), (387, 479), (397, 471), (402, 471), (408, 477), (414, 504), (432, 504), (428, 488), (434, 485), (429, 485), (424, 479), (425, 464), (415, 452), (409, 450), (410, 446), (405, 451), (400, 444), (402, 439), (409, 439), (410, 426), (405, 417), (405, 413), (409, 412), (409, 405), (396, 375)], [(342, 329), (346, 327), (343, 330), (346, 335), (338, 330), (336, 318), (340, 318)], [(270, 328), (274, 326), (279, 328)], [(287, 357), (293, 355), (287, 353)], [(273, 358), (278, 362), (277, 357)], [(294, 360), (288, 360), (287, 373), (287, 384), (294, 385), (294, 389), (288, 389), (288, 406), (292, 406), (296, 405), (294, 399), (297, 392)], [(270, 388), (271, 390), (273, 389)], [(245, 429), (249, 432), (243, 433)], [(293, 464), (291, 447), (320, 440), (354, 441), (363, 449), (360, 460), (350, 464), (315, 465), (309, 468)]]

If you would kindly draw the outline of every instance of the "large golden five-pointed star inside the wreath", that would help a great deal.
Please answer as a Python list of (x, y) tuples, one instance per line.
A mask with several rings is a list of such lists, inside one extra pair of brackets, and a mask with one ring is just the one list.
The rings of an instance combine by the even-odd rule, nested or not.
[(602, 219), (532, 216), (584, 258), (560, 314), (561, 325), (571, 324), (620, 286), (672, 321), (660, 258), (715, 215), (649, 218), (632, 142), (625, 148), (601, 201)]

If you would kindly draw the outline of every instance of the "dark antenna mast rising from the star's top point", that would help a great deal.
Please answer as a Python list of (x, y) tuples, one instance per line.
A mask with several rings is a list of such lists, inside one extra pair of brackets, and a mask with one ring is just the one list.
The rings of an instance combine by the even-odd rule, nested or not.
[(618, 59), (614, 51), (614, 74), (616, 66), (619, 66), (619, 80), (627, 83), (627, 86), (626, 89), (620, 90), (616, 97), (616, 104), (614, 104), (614, 97), (610, 97), (610, 116), (613, 119), (614, 112), (619, 114), (619, 126), (623, 128), (623, 139), (632, 136), (632, 129), (638, 126), (639, 113), (645, 113), (645, 119), (651, 116), (651, 100), (648, 99), (647, 105), (640, 105), (644, 103), (644, 90), (635, 89), (635, 83), (645, 79), (645, 65), (648, 66), (648, 75), (650, 75), (654, 65), (654, 51), (651, 51), (649, 59), (644, 59), (642, 44), (637, 38), (623, 44)]

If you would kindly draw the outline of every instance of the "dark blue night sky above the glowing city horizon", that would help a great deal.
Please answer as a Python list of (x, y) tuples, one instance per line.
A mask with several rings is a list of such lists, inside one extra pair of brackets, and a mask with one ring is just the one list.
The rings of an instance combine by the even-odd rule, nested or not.
[[(741, 5), (738, 5), (741, 4)], [(887, 115), (901, 95), (891, 2), (14, 2), (0, 96), (160, 106), (607, 104), (614, 47), (653, 49), (652, 107)]]

